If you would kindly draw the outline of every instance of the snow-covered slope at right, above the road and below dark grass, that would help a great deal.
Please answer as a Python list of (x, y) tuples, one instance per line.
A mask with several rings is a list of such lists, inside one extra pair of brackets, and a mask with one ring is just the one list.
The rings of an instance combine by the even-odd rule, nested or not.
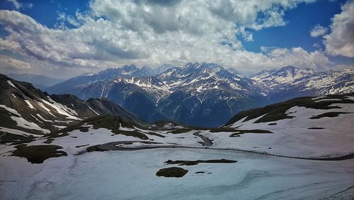
[[(270, 130), (272, 133), (246, 133), (229, 137), (232, 133), (202, 135), (213, 140), (212, 148), (236, 148), (267, 152), (292, 157), (340, 157), (354, 153), (354, 104), (332, 104), (341, 109), (308, 109), (292, 107), (287, 111), (294, 118), (255, 123), (262, 116), (244, 122), (244, 118), (231, 127), (241, 130)], [(322, 113), (345, 112), (337, 117), (311, 119)], [(273, 123), (273, 124), (272, 124)], [(313, 129), (320, 128), (320, 129)]]

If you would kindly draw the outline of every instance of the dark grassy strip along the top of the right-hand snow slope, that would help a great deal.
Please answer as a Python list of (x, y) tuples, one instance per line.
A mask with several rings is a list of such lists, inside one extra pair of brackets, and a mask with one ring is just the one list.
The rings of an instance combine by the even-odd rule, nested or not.
[(339, 100), (335, 101), (318, 101), (312, 100), (314, 97), (300, 97), (297, 99), (292, 99), (289, 101), (285, 101), (279, 104), (272, 104), (269, 106), (265, 106), (263, 108), (251, 109), (249, 111), (241, 111), (236, 116), (234, 116), (230, 121), (227, 122), (226, 126), (235, 123), (236, 121), (241, 120), (242, 118), (246, 118), (244, 121), (249, 121), (251, 119), (257, 118), (259, 116), (263, 116), (259, 118), (255, 123), (263, 123), (270, 121), (278, 121), (285, 118), (293, 118), (290, 116), (291, 113), (286, 113), (287, 110), (294, 106), (305, 107), (309, 109), (341, 109), (339, 106), (331, 106), (331, 104), (354, 104), (354, 101), (350, 99), (346, 99), (346, 95), (329, 95), (324, 99), (336, 98)]

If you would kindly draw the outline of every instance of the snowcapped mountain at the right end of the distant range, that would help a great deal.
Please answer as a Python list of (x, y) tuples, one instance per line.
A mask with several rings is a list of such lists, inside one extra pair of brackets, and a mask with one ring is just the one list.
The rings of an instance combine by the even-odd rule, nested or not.
[(251, 77), (270, 102), (280, 102), (297, 96), (346, 94), (354, 91), (354, 71), (315, 72), (287, 66), (280, 70), (263, 71)]

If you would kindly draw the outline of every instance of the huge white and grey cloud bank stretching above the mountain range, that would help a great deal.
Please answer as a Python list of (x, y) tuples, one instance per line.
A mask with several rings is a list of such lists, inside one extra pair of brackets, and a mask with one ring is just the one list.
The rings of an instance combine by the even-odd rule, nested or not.
[(0, 24), (8, 32), (0, 38), (0, 50), (81, 69), (196, 61), (252, 72), (284, 65), (321, 69), (331, 62), (319, 51), (248, 52), (235, 37), (253, 40), (249, 30), (284, 26), (286, 10), (312, 1), (96, 0), (86, 13), (59, 15), (74, 28), (47, 28), (23, 13), (0, 11)]

